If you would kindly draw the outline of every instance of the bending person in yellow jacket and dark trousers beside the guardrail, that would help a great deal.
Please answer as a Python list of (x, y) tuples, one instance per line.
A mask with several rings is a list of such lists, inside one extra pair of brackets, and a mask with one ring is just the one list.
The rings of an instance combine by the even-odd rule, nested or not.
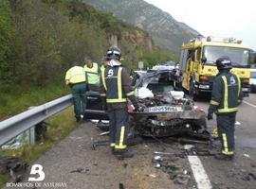
[(71, 88), (75, 117), (80, 122), (86, 105), (86, 82), (82, 66), (73, 66), (66, 71), (65, 84)]

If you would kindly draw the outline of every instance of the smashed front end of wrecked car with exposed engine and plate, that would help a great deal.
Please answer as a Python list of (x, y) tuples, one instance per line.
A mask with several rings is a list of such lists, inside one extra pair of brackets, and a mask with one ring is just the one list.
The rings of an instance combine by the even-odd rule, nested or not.
[(130, 114), (131, 124), (140, 135), (163, 137), (206, 129), (206, 113), (201, 108), (190, 99), (172, 98), (171, 94), (165, 94), (138, 99), (143, 112)]

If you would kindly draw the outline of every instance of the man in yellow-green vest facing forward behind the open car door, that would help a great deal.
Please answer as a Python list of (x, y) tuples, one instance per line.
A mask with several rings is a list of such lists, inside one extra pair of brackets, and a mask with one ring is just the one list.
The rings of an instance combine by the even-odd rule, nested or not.
[(87, 80), (87, 87), (89, 91), (99, 91), (101, 69), (96, 62), (92, 62), (90, 59), (84, 59), (84, 71)]

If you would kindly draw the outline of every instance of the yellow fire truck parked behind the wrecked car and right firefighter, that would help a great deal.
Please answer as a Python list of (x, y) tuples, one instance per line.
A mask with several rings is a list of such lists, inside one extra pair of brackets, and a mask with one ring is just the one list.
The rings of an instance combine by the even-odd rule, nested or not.
[(198, 37), (190, 43), (182, 44), (179, 60), (182, 88), (187, 90), (192, 98), (211, 92), (212, 81), (218, 73), (215, 61), (222, 56), (230, 58), (233, 67), (231, 72), (241, 77), (244, 96), (249, 94), (250, 49), (243, 45), (242, 41), (232, 38)]

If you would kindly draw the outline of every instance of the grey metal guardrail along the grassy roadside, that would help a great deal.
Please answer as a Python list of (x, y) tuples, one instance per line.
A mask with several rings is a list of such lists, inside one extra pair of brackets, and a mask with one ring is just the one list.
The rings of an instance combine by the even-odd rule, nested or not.
[(0, 122), (0, 146), (53, 114), (63, 111), (72, 105), (71, 99), (72, 95), (68, 94)]

